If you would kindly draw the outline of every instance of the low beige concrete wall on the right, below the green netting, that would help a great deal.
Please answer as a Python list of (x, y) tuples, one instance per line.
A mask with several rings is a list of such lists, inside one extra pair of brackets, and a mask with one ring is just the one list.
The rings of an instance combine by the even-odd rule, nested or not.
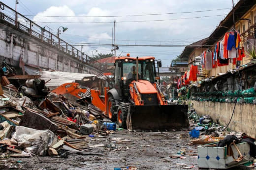
[[(234, 109), (234, 103), (191, 101), (196, 113), (210, 115), (214, 121), (226, 126)], [(233, 118), (228, 126), (236, 132), (245, 132), (256, 138), (256, 105), (236, 104)]]

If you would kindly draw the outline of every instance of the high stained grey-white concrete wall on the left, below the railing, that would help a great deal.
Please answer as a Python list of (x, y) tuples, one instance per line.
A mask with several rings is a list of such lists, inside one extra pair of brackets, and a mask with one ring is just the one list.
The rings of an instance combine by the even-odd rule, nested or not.
[(20, 57), (25, 64), (57, 71), (97, 74), (99, 70), (78, 58), (65, 54), (40, 40), (0, 24), (0, 59), (19, 67)]

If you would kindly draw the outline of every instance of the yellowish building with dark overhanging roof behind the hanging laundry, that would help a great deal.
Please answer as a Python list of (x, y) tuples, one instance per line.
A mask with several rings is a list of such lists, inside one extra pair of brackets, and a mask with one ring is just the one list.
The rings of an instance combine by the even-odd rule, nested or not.
[[(256, 38), (256, 1), (240, 0), (234, 7), (235, 13), (235, 29), (241, 35), (241, 46), (250, 46), (250, 49), (255, 50)], [(201, 53), (208, 48), (214, 51), (214, 45), (224, 38), (227, 31), (233, 28), (233, 12), (232, 10), (220, 22), (217, 28), (211, 33), (208, 38), (199, 40), (185, 47), (181, 57), (188, 58), (189, 67), (194, 62), (194, 58), (200, 56)], [(240, 65), (251, 61), (249, 52), (246, 52), (246, 57), (243, 58)], [(210, 71), (203, 71), (205, 77), (217, 76), (220, 73), (226, 73), (227, 70), (234, 69), (236, 65), (229, 63), (228, 66), (213, 68)]]

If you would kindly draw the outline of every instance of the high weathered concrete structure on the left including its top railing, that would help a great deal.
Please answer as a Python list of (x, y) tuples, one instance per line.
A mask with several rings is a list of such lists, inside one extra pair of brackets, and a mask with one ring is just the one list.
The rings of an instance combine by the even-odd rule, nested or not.
[(74, 73), (100, 72), (96, 64), (86, 63), (86, 56), (59, 35), (0, 3), (0, 59), (23, 68), (23, 73), (24, 66)]

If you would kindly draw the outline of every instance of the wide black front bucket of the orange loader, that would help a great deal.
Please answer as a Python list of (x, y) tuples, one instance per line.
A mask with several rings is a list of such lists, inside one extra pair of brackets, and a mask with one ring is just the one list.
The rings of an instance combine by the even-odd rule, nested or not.
[(188, 105), (130, 106), (129, 131), (173, 131), (189, 128)]

